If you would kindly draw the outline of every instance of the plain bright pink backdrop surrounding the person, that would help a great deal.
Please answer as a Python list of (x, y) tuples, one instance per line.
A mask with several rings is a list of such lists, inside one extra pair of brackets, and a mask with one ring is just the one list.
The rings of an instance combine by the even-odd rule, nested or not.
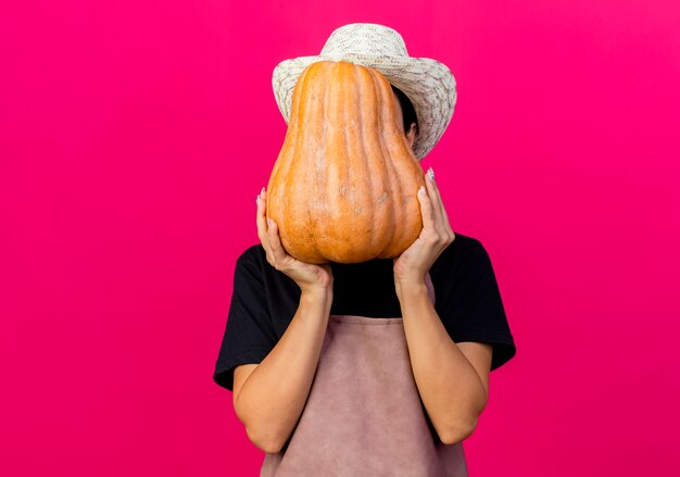
[(677, 2), (5, 3), (0, 474), (256, 475), (212, 373), (272, 70), (375, 22), (456, 76), (423, 165), (518, 347), (471, 476), (679, 475)]

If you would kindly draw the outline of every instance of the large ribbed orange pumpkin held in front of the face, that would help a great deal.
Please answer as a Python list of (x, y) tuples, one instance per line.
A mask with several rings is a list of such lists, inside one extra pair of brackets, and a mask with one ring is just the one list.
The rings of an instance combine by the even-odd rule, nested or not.
[(390, 83), (344, 61), (307, 66), (267, 185), (267, 217), (306, 263), (399, 256), (420, 234), (423, 168), (396, 117)]

